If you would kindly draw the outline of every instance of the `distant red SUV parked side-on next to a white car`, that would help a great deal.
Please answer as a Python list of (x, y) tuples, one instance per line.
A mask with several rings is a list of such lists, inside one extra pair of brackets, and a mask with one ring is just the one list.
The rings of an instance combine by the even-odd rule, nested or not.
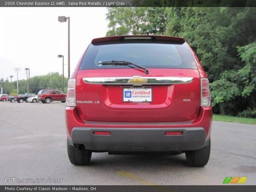
[(66, 94), (59, 90), (43, 89), (37, 93), (38, 100), (42, 101), (42, 103), (50, 103), (51, 101), (61, 101), (64, 103), (66, 96)]

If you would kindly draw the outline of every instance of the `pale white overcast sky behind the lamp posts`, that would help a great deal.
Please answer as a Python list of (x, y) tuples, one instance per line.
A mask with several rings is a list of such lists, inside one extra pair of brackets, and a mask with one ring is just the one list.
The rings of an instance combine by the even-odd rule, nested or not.
[[(68, 76), (68, 23), (60, 23), (58, 16), (70, 17), (70, 74), (93, 38), (107, 32), (105, 7), (1, 7), (0, 8), (0, 78), (13, 75), (20, 68), (19, 79), (49, 72)], [(10, 81), (10, 78), (9, 78)]]

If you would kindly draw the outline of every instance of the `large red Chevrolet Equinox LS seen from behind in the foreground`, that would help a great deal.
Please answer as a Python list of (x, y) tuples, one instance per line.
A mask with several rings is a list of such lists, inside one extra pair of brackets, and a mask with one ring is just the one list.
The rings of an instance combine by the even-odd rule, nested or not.
[(75, 165), (92, 152), (185, 153), (192, 166), (210, 156), (209, 81), (181, 37), (93, 39), (68, 81), (65, 114)]

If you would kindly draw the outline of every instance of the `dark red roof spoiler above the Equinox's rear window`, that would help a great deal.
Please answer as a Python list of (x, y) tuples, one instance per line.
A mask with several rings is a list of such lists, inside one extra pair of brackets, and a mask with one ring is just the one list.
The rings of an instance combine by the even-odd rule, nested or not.
[(135, 40), (135, 39), (152, 39), (152, 40), (162, 40), (162, 41), (174, 41), (185, 43), (185, 39), (182, 37), (174, 36), (160, 36), (160, 35), (126, 35), (126, 36), (108, 36), (92, 39), (92, 43), (106, 42), (106, 41), (121, 41), (121, 40)]

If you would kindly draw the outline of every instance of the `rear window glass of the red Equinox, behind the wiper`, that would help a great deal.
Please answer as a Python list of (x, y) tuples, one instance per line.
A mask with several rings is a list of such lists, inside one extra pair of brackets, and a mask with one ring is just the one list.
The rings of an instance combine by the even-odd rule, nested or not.
[(112, 60), (128, 61), (146, 68), (197, 68), (187, 43), (173, 44), (166, 43), (166, 41), (150, 41), (90, 44), (80, 65), (80, 70), (130, 68), (129, 66), (102, 66), (99, 64)]

